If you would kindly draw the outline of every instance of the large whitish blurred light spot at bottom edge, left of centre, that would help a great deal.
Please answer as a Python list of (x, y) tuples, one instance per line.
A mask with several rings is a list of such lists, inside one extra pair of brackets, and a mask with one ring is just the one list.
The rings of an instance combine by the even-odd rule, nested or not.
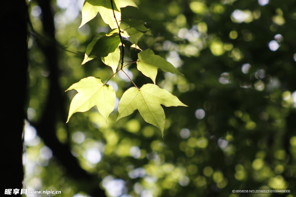
[(118, 197), (123, 193), (125, 189), (125, 182), (122, 179), (114, 179), (112, 176), (106, 176), (103, 179), (103, 187), (106, 188), (107, 192), (112, 197)]

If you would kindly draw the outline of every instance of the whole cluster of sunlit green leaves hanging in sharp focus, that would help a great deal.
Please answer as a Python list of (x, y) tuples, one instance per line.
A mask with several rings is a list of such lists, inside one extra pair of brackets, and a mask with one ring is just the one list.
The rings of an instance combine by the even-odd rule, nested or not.
[[(102, 19), (110, 26), (111, 30), (108, 33), (100, 32), (94, 37), (86, 48), (82, 65), (94, 58), (101, 58), (104, 64), (112, 68), (114, 73), (112, 76), (114, 76), (119, 71), (124, 72), (123, 67), (128, 65), (123, 65), (124, 51), (128, 51), (130, 55), (131, 47), (138, 49), (140, 51), (138, 59), (132, 63), (136, 63), (137, 69), (152, 79), (154, 84), (144, 84), (141, 88), (138, 88), (124, 72), (135, 87), (123, 93), (118, 105), (119, 116), (117, 120), (130, 115), (137, 109), (144, 120), (157, 126), (163, 135), (165, 113), (160, 104), (167, 107), (186, 105), (178, 100), (176, 96), (155, 84), (157, 69), (160, 68), (165, 72), (173, 74), (182, 74), (164, 58), (155, 55), (151, 49), (143, 51), (139, 48), (137, 45), (139, 38), (144, 34), (151, 35), (151, 33), (145, 27), (145, 23), (142, 20), (121, 19), (120, 8), (126, 6), (137, 7), (132, 0), (86, 0), (84, 2), (80, 27), (93, 19), (97, 13), (100, 13)], [(120, 28), (120, 22), (126, 25), (127, 28), (125, 30)], [(70, 104), (67, 122), (73, 113), (85, 112), (95, 105), (107, 122), (109, 114), (115, 107), (116, 97), (114, 89), (106, 84), (107, 82), (103, 83), (101, 79), (90, 76), (71, 85), (66, 91), (75, 89), (78, 91), (78, 94), (75, 95)]]

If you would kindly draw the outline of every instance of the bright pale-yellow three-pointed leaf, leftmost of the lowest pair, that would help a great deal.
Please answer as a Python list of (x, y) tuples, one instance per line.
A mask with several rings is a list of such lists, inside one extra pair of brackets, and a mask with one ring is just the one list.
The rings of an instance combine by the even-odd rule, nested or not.
[(116, 96), (112, 86), (104, 85), (101, 79), (89, 76), (71, 85), (66, 91), (71, 89), (77, 90), (78, 94), (71, 101), (67, 122), (73, 113), (85, 112), (95, 105), (107, 122), (115, 107)]

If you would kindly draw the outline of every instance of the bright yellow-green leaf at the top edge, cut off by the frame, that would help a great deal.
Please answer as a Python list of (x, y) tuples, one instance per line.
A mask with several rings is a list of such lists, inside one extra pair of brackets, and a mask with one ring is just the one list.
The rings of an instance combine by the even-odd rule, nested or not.
[[(80, 27), (93, 19), (99, 12), (104, 22), (108, 24), (111, 29), (118, 28), (121, 19), (120, 8), (126, 6), (137, 7), (132, 0), (115, 0), (113, 1), (113, 13), (110, 0), (85, 0), (82, 8), (82, 21)], [(114, 14), (117, 22), (114, 18)]]

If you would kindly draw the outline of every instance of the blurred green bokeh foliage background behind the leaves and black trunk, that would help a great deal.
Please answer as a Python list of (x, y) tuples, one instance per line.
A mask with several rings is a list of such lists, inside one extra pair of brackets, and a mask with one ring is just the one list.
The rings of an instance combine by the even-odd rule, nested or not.
[[(152, 33), (138, 45), (184, 74), (159, 70), (157, 85), (189, 107), (164, 107), (163, 138), (137, 111), (115, 122), (133, 87), (119, 72), (108, 82), (117, 97), (108, 125), (95, 107), (66, 124), (77, 92), (64, 91), (112, 75), (100, 59), (81, 66), (86, 46), (110, 27), (98, 14), (78, 29), (83, 0), (28, 1), (24, 188), (60, 197), (287, 196), (229, 188), (295, 189), (296, 1), (134, 2), (139, 9), (122, 8), (122, 18), (143, 20)], [(152, 83), (135, 64), (126, 72), (138, 87)]]

